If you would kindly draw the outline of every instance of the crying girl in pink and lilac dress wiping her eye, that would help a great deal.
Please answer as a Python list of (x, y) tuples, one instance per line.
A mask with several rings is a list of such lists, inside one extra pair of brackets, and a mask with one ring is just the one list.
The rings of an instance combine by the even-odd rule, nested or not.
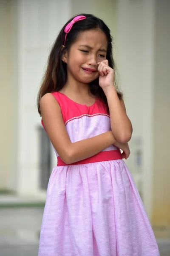
[(159, 256), (122, 160), (130, 154), (132, 125), (116, 90), (112, 39), (102, 20), (79, 15), (59, 32), (38, 110), (57, 155), (39, 256)]

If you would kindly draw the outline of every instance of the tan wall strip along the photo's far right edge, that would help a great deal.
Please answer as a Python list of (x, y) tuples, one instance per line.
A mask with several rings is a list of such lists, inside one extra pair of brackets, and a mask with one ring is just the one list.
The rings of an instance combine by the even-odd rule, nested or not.
[(170, 226), (170, 1), (156, 0), (153, 223)]

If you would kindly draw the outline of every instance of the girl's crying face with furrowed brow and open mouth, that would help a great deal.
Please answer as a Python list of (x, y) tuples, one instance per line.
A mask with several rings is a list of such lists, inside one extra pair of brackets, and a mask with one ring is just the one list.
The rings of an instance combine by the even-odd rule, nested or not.
[(108, 41), (100, 29), (80, 32), (77, 41), (63, 56), (67, 63), (68, 79), (90, 83), (99, 77), (98, 62), (106, 59)]

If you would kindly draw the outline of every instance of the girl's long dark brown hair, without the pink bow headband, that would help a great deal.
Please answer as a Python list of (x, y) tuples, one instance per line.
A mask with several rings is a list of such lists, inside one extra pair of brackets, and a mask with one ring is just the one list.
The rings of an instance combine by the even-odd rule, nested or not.
[[(66, 50), (69, 51), (71, 45), (76, 41), (79, 32), (89, 30), (89, 29), (101, 29), (102, 32), (105, 33), (108, 40), (106, 59), (108, 60), (109, 66), (113, 68), (115, 71), (115, 62), (113, 60), (113, 54), (112, 54), (112, 37), (111, 37), (110, 29), (103, 22), (103, 20), (95, 17), (94, 15), (91, 15), (91, 14), (81, 14), (81, 15), (84, 15), (86, 19), (80, 20), (73, 25), (73, 27), (71, 28), (71, 31), (67, 35), (65, 47), (64, 48), (62, 47), (65, 39), (64, 28), (77, 15), (72, 17), (70, 20), (68, 20), (68, 22), (63, 26), (63, 28), (59, 32), (59, 35), (56, 41), (53, 44), (53, 47), (51, 49), (51, 52), (48, 58), (47, 68), (43, 76), (42, 84), (37, 97), (37, 107), (38, 107), (39, 113), (40, 113), (40, 99), (42, 98), (42, 96), (44, 96), (46, 93), (52, 93), (52, 92), (61, 90), (67, 81), (67, 64), (65, 64), (62, 61), (62, 55), (64, 51)], [(116, 79), (114, 80), (115, 80), (114, 85), (116, 87), (117, 94), (119, 96), (119, 99), (121, 99), (122, 93), (118, 90)], [(91, 94), (101, 99), (108, 108), (108, 102), (107, 102), (105, 93), (103, 92), (102, 88), (99, 86), (99, 78), (91, 82), (89, 89)]]

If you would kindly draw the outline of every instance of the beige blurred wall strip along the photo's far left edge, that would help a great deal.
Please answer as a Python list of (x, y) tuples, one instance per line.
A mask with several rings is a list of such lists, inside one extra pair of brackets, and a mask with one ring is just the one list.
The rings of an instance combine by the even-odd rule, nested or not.
[(0, 189), (17, 186), (17, 5), (0, 0)]

